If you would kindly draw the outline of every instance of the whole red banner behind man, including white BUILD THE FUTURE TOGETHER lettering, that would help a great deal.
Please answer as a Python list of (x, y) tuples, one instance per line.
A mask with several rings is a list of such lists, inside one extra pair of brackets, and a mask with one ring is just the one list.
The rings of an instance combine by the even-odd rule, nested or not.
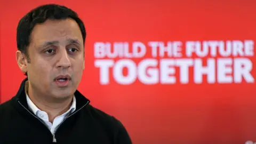
[[(55, 2), (87, 30), (78, 90), (120, 119), (134, 143), (256, 142), (256, 2)], [(1, 102), (24, 78), (18, 22), (46, 3), (1, 2)]]

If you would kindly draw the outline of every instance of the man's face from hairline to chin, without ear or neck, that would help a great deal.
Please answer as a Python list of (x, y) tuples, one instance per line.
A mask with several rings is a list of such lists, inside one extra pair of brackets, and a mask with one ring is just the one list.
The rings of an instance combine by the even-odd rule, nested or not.
[(33, 91), (54, 98), (74, 94), (84, 69), (81, 30), (74, 20), (36, 25), (28, 47), (28, 79)]

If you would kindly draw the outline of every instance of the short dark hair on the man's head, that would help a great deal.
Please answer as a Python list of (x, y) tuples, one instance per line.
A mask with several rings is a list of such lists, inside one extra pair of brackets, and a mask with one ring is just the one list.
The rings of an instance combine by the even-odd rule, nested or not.
[[(46, 20), (63, 20), (71, 18), (75, 20), (81, 29), (83, 36), (83, 42), (85, 43), (86, 31), (84, 23), (78, 18), (78, 14), (66, 6), (57, 4), (46, 4), (36, 7), (35, 9), (28, 12), (18, 23), (17, 27), (17, 47), (22, 53), (27, 56), (28, 62), (29, 55), (27, 47), (30, 44), (30, 34), (33, 28), (38, 23), (44, 23)], [(27, 76), (27, 73), (25, 73)]]

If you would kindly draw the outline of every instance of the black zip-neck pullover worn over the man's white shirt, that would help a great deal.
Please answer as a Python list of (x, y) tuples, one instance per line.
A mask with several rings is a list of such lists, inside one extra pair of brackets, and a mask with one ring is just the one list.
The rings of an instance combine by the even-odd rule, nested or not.
[[(76, 110), (53, 135), (29, 110), (24, 79), (18, 93), (0, 105), (0, 144), (12, 143), (99, 143), (130, 144), (125, 127), (113, 116), (91, 106), (90, 100), (75, 92)], [(53, 142), (55, 137), (56, 142)]]

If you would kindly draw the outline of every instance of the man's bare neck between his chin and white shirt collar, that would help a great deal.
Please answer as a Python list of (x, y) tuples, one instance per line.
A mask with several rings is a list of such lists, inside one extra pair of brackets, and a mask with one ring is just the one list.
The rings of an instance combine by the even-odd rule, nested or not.
[(27, 93), (36, 107), (47, 113), (51, 123), (55, 117), (62, 115), (70, 108), (73, 100), (73, 97), (59, 100), (51, 98), (49, 95), (36, 93), (29, 84), (27, 84)]

